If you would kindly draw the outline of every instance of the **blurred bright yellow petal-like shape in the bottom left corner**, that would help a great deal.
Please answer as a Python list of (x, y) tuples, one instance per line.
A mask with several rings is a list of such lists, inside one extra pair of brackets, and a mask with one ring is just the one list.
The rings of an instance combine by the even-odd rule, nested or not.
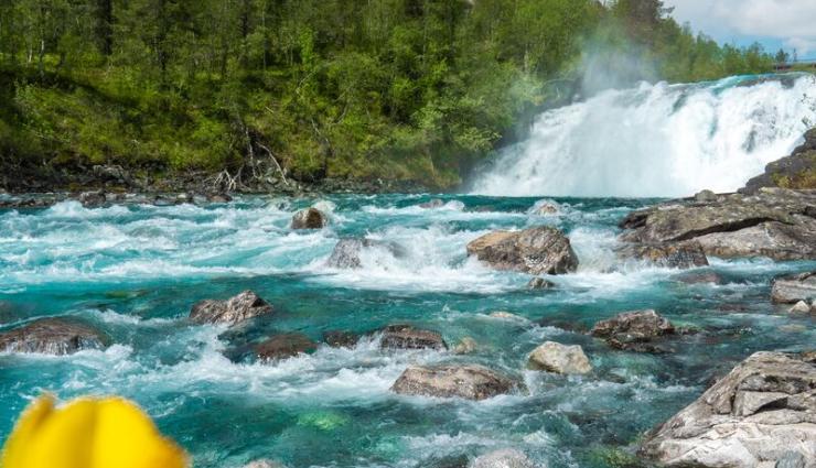
[(54, 407), (42, 396), (20, 416), (0, 468), (185, 468), (187, 456), (136, 404), (84, 398)]

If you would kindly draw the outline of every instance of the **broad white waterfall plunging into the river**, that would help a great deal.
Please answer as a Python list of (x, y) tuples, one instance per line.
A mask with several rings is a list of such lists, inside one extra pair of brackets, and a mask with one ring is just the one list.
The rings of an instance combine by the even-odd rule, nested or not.
[(730, 192), (816, 126), (816, 77), (643, 84), (541, 113), (472, 192), (507, 196), (687, 196)]

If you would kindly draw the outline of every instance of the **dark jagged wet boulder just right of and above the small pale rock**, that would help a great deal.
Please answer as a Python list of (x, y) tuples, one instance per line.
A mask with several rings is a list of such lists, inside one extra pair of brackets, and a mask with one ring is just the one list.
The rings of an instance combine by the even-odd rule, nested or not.
[(674, 325), (653, 309), (618, 314), (597, 323), (590, 335), (613, 348), (637, 352), (665, 352), (661, 338), (676, 334)]

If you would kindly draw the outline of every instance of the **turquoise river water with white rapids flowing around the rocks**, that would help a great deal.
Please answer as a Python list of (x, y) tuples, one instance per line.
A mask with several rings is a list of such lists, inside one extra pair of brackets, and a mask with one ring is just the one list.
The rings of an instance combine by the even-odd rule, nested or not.
[[(711, 379), (761, 349), (801, 350), (816, 342), (814, 318), (770, 304), (770, 279), (813, 262), (712, 260), (724, 284), (687, 285), (677, 271), (619, 265), (611, 248), (618, 220), (654, 200), (559, 198), (561, 211), (528, 214), (537, 198), (336, 196), (245, 197), (196, 207), (74, 202), (0, 211), (0, 327), (33, 317), (76, 316), (115, 345), (68, 357), (0, 355), (0, 440), (43, 391), (62, 399), (121, 394), (141, 404), (196, 467), (240, 467), (256, 458), (290, 467), (428, 467), (445, 457), (517, 447), (549, 467), (610, 466), (610, 450), (696, 399)], [(331, 227), (293, 232), (291, 215), (312, 204)], [(551, 225), (568, 232), (581, 261), (555, 276), (558, 289), (532, 292), (529, 276), (494, 272), (465, 257), (465, 244), (497, 228)], [(324, 265), (337, 238), (398, 243), (399, 258), (376, 249), (364, 266)], [(367, 333), (391, 323), (464, 336), (469, 356), (383, 352), (376, 334), (354, 349), (321, 346), (277, 364), (236, 363), (223, 327), (185, 320), (202, 298), (251, 289), (272, 303), (272, 319), (253, 339), (302, 331)], [(619, 312), (651, 307), (707, 330), (674, 355), (615, 351), (581, 329)], [(490, 317), (508, 311), (526, 320)], [(580, 344), (594, 372), (560, 377), (525, 370), (545, 340)], [(395, 395), (388, 388), (409, 363), (477, 362), (523, 380), (527, 393), (483, 402)]]

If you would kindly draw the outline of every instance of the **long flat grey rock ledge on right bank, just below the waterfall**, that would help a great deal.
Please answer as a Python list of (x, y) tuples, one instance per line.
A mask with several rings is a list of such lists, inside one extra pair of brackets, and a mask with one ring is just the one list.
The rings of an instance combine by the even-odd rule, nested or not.
[(754, 195), (672, 200), (632, 211), (620, 227), (629, 246), (694, 240), (707, 255), (813, 260), (816, 191), (761, 188)]

